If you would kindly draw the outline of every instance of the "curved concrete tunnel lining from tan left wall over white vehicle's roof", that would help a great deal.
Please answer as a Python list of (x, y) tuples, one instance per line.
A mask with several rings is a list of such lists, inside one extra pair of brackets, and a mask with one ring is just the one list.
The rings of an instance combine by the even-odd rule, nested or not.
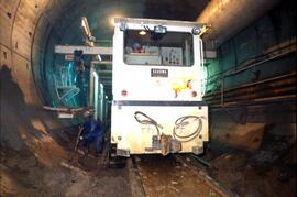
[[(208, 0), (1, 0), (1, 67), (11, 70), (26, 103), (57, 100), (51, 73), (55, 44), (81, 44), (80, 18), (98, 40), (110, 40), (110, 18), (195, 21)], [(4, 30), (4, 31), (3, 31)], [(46, 81), (47, 79), (47, 81)], [(45, 98), (52, 95), (50, 100)]]

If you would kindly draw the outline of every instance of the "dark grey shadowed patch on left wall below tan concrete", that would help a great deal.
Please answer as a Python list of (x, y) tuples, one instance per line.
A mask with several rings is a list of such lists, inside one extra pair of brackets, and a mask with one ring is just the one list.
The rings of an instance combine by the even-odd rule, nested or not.
[[(19, 85), (13, 81), (11, 70), (4, 65), (1, 79), (1, 145), (19, 151), (24, 149), (20, 131), (29, 132), (32, 138), (42, 138), (43, 132), (35, 130), (28, 116), (28, 106)], [(29, 139), (30, 140), (30, 139)]]

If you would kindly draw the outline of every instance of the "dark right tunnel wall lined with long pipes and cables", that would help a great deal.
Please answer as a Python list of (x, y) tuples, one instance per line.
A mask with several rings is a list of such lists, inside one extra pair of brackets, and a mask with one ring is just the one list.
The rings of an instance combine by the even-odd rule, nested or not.
[[(207, 68), (205, 99), (210, 103), (215, 150), (223, 152), (232, 147), (252, 154), (266, 151), (279, 156), (296, 144), (294, 1), (282, 2), (223, 43), (218, 48), (218, 58), (207, 61)], [(279, 76), (285, 77), (270, 81)]]

